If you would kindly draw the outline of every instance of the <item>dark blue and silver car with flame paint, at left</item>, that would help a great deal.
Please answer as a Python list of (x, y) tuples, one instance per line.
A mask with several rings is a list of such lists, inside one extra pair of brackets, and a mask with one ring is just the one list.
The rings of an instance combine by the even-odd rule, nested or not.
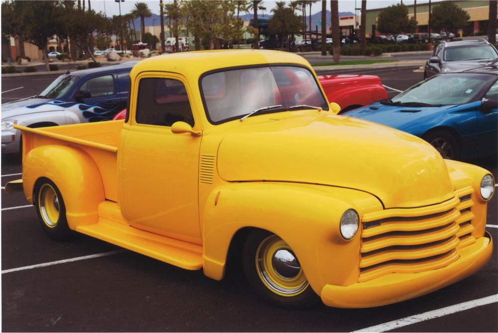
[(15, 123), (37, 128), (110, 120), (126, 105), (129, 72), (136, 63), (64, 74), (37, 96), (3, 104), (1, 152), (19, 152), (21, 135)]

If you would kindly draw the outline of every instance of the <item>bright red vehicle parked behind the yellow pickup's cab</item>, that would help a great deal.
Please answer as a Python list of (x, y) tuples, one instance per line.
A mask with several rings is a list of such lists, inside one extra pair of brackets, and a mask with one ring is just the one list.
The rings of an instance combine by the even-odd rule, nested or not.
[[(380, 78), (375, 75), (320, 75), (318, 79), (329, 102), (335, 102), (341, 107), (339, 113), (387, 98)], [(113, 120), (124, 119), (125, 116), (126, 109), (123, 109)]]

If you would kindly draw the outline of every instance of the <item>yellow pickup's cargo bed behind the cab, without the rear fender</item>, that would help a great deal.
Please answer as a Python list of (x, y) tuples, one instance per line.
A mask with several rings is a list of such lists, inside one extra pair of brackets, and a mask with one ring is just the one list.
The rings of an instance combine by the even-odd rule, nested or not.
[(44, 128), (16, 126), (22, 131), (23, 160), (29, 152), (45, 145), (74, 146), (85, 151), (102, 175), (107, 200), (118, 201), (117, 152), (123, 121), (76, 124)]

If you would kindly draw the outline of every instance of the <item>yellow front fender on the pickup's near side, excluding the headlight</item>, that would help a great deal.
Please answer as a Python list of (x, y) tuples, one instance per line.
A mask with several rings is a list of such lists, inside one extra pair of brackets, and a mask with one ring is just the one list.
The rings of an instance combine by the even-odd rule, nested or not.
[(359, 276), (360, 232), (345, 241), (339, 231), (349, 208), (360, 216), (380, 210), (366, 192), (299, 183), (243, 182), (215, 188), (203, 216), (204, 273), (221, 280), (231, 240), (246, 227), (281, 237), (297, 255), (311, 287), (348, 285)]

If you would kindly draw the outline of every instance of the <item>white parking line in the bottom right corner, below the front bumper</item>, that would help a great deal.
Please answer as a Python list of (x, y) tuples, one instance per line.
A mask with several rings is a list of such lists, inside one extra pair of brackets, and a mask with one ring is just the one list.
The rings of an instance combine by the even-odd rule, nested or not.
[(477, 300), (459, 303), (455, 305), (451, 305), (449, 307), (424, 312), (422, 314), (401, 318), (392, 322), (375, 325), (368, 327), (366, 329), (361, 329), (353, 332), (386, 332), (394, 329), (399, 329), (403, 326), (420, 323), (429, 319), (439, 318), (446, 315), (451, 315), (460, 311), (469, 310), (473, 308), (477, 308), (483, 305), (497, 303), (498, 302), (498, 294), (491, 295), (488, 297), (483, 297)]

